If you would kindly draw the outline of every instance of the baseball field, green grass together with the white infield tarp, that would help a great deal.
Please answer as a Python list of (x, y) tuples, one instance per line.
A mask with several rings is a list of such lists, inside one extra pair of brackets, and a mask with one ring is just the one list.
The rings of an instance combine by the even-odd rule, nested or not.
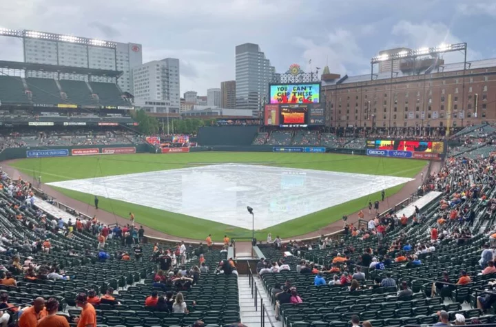
[[(257, 185), (252, 185), (249, 184), (250, 182), (253, 183), (252, 181), (236, 180), (236, 178), (244, 176), (241, 173), (246, 173), (246, 171), (240, 171), (239, 174), (236, 171), (231, 171), (230, 174), (222, 176), (222, 179), (228, 180), (229, 184), (226, 184), (227, 182), (225, 184), (217, 184), (215, 179), (208, 182), (201, 180), (207, 173), (205, 171), (194, 170), (198, 169), (198, 167), (212, 167), (226, 163), (241, 164), (239, 167), (249, 167), (248, 165), (276, 167), (282, 173), (285, 173), (285, 175), (271, 178), (271, 183), (276, 184), (264, 185), (264, 180), (257, 179), (257, 176), (254, 176), (254, 173), (251, 172), (251, 176), (254, 176), (254, 180), (257, 183)], [(264, 226), (264, 228), (258, 229), (255, 227), (257, 230), (256, 238), (265, 240), (267, 233), (271, 233), (273, 238), (275, 235), (280, 235), (280, 237), (288, 239), (296, 235), (316, 231), (331, 222), (340, 220), (343, 215), (349, 215), (365, 207), (369, 200), (372, 200), (372, 202), (378, 200), (380, 198), (379, 189), (385, 189), (386, 196), (391, 196), (397, 191), (400, 191), (404, 185), (403, 183), (398, 184), (398, 182), (393, 187), (390, 187), (391, 185), (388, 184), (384, 184), (384, 187), (382, 185), (380, 187), (371, 185), (370, 187), (366, 187), (366, 189), (369, 189), (369, 191), (375, 190), (372, 193), (365, 192), (364, 195), (361, 195), (361, 193), (352, 192), (353, 194), (349, 195), (349, 193), (345, 192), (345, 189), (356, 187), (356, 182), (352, 178), (349, 179), (348, 184), (346, 179), (343, 182), (343, 178), (346, 178), (346, 176), (358, 176), (362, 180), (366, 178), (363, 174), (370, 175), (371, 178), (373, 176), (413, 178), (426, 164), (427, 162), (422, 160), (348, 156), (342, 154), (194, 152), (187, 154), (123, 154), (34, 158), (17, 160), (12, 163), (12, 166), (30, 176), (41, 176), (45, 183), (54, 182), (52, 187), (70, 198), (92, 205), (94, 202), (93, 194), (98, 194), (100, 199), (99, 207), (105, 211), (112, 212), (124, 218), (127, 218), (129, 213), (132, 212), (136, 216), (136, 222), (138, 224), (149, 226), (152, 229), (163, 231), (169, 235), (175, 235), (178, 238), (184, 237), (197, 240), (204, 240), (209, 233), (211, 233), (214, 240), (222, 240), (225, 234), (238, 238), (250, 237), (251, 229), (245, 226), (246, 224), (239, 222), (239, 220), (245, 219), (243, 218), (244, 216), (236, 218), (237, 220), (233, 218), (232, 223), (230, 223), (229, 216), (225, 220), (216, 220), (215, 213), (217, 212), (219, 216), (222, 216), (221, 210), (232, 209), (235, 215), (235, 211), (240, 207), (246, 207), (246, 205), (254, 206), (254, 203), (262, 201), (260, 198), (251, 198), (251, 194), (259, 194), (262, 199), (265, 197), (269, 200), (269, 198), (272, 196), (276, 197), (278, 196), (277, 193), (281, 192), (281, 194), (285, 194), (286, 198), (289, 195), (289, 198), (295, 200), (297, 203), (312, 203), (311, 199), (318, 198), (318, 194), (314, 193), (311, 195), (310, 193), (312, 191), (309, 187), (313, 185), (311, 183), (317, 183), (321, 192), (326, 191), (328, 192), (326, 194), (330, 194), (324, 198), (344, 198), (344, 200), (340, 200), (339, 204), (332, 207), (326, 207), (325, 209), (304, 214), (298, 218), (291, 218), (291, 220), (287, 221), (283, 219), (285, 210), (287, 210), (288, 215), (290, 211), (291, 215), (298, 215), (298, 212), (300, 212), (298, 211), (299, 208), (295, 208), (295, 206), (291, 206), (287, 202), (284, 202), (284, 207), (281, 207), (279, 202), (278, 208), (274, 209), (271, 207), (267, 209), (267, 214), (270, 215), (273, 213), (276, 215), (277, 213), (280, 220), (271, 220), (271, 222), (260, 220), (257, 224)], [(249, 170), (249, 168), (246, 170)], [(176, 173), (175, 178), (176, 182), (178, 182), (174, 185), (161, 183), (160, 180), (150, 177), (153, 175), (147, 174), (162, 171), (164, 173), (167, 173), (167, 171)], [(272, 175), (273, 171), (274, 169), (271, 171)], [(315, 171), (319, 171), (320, 173), (341, 173), (340, 176), (342, 179), (339, 183), (334, 183), (332, 179), (323, 183), (322, 180), (319, 180), (320, 177), (312, 177), (313, 175), (311, 173)], [(291, 178), (287, 178), (288, 175)], [(110, 176), (113, 177), (110, 178)], [(112, 184), (112, 180), (119, 178), (122, 182), (122, 180), (125, 181), (127, 179), (127, 176), (130, 176), (128, 179), (130, 182), (125, 187), (119, 186), (119, 188), (125, 189), (123, 191), (130, 195), (131, 198), (130, 200), (122, 200), (124, 198), (121, 197), (121, 200), (118, 200), (119, 197), (114, 196), (114, 194), (120, 193), (120, 191)], [(196, 190), (194, 187), (195, 178), (198, 180), (198, 189)], [(333, 178), (333, 176), (327, 176), (326, 178)], [(106, 193), (104, 192), (103, 195), (96, 193), (96, 191), (92, 191), (92, 187), (65, 187), (64, 182), (74, 180), (83, 180), (81, 183), (86, 186), (92, 185), (92, 183), (98, 186), (98, 183), (102, 184), (103, 181), (103, 187), (105, 187)], [(399, 180), (400, 182), (402, 181), (402, 179)], [(267, 180), (267, 183), (269, 183), (269, 180)], [(211, 184), (211, 192), (208, 190), (209, 184)], [(96, 186), (95, 190), (97, 189)], [(207, 188), (205, 189), (205, 187)], [(256, 191), (251, 191), (252, 189)], [(263, 193), (267, 189), (270, 189), (271, 193)], [(218, 193), (218, 191), (223, 191), (223, 193), (220, 193), (220, 196), (223, 198), (214, 198), (210, 194)], [(147, 201), (145, 200), (150, 197), (153, 198), (154, 204), (146, 205), (145, 203)], [(170, 211), (159, 209), (169, 208), (161, 206), (162, 203), (167, 204), (169, 202), (174, 203), (179, 209), (171, 209)], [(194, 207), (197, 211), (188, 211), (190, 209), (189, 207)], [(214, 211), (214, 208), (218, 209), (218, 211)], [(254, 209), (256, 213), (260, 212), (260, 210), (257, 211), (257, 207), (254, 207)], [(203, 218), (203, 211), (205, 211), (205, 218)], [(185, 214), (184, 212), (195, 212), (195, 214)], [(251, 221), (248, 213), (246, 215), (246, 220)], [(264, 219), (270, 220), (269, 218)]]

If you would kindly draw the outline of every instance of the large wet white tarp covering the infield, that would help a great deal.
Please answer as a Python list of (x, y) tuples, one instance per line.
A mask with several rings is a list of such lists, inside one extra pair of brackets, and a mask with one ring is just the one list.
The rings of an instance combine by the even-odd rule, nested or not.
[(255, 213), (255, 229), (265, 229), (410, 180), (223, 164), (49, 184), (94, 194), (101, 204), (112, 198), (246, 229), (251, 229), (251, 215), (246, 209), (250, 206)]

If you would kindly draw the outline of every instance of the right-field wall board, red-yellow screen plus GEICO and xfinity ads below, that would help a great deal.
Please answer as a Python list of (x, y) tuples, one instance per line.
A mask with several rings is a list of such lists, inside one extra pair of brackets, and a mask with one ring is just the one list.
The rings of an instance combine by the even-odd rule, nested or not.
[(446, 154), (443, 141), (367, 140), (367, 156), (441, 160)]

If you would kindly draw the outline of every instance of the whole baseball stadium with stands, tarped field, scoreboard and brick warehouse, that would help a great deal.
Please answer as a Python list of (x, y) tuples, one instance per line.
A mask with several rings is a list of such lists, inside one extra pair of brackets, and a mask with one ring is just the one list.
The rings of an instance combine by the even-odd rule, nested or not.
[(0, 61), (0, 326), (495, 324), (496, 61), (466, 50), (293, 64), (249, 116)]

